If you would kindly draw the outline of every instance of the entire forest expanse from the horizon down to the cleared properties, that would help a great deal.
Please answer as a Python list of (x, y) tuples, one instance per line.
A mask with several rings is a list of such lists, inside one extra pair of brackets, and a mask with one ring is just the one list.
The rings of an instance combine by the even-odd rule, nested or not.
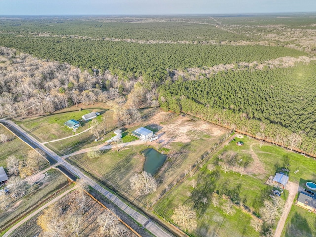
[(314, 154), (314, 19), (2, 18), (0, 115), (159, 99), (164, 109)]

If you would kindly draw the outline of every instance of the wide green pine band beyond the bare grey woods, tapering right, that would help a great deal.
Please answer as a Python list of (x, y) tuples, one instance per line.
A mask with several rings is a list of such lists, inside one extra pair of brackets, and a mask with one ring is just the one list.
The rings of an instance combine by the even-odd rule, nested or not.
[(286, 47), (201, 44), (139, 44), (58, 37), (12, 37), (1, 44), (34, 56), (67, 62), (80, 68), (109, 69), (115, 75), (143, 75), (164, 81), (167, 69), (211, 67), (236, 62), (263, 62), (283, 56), (306, 55)]

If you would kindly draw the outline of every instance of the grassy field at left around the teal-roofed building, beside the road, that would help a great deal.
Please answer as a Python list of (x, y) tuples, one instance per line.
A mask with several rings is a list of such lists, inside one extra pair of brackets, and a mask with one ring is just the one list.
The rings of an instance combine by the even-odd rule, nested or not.
[[(75, 108), (73, 108), (75, 109)], [(78, 108), (77, 108), (78, 109)], [(75, 132), (64, 127), (64, 123), (69, 119), (75, 119), (77, 121), (82, 120), (82, 115), (90, 113), (92, 111), (98, 112), (100, 109), (84, 109), (81, 111), (69, 111), (54, 113), (52, 115), (43, 116), (35, 119), (28, 119), (18, 124), (29, 132), (40, 142), (48, 142), (51, 140), (64, 138), (74, 135)], [(81, 127), (76, 133), (80, 133), (90, 127), (91, 121), (80, 121)]]

